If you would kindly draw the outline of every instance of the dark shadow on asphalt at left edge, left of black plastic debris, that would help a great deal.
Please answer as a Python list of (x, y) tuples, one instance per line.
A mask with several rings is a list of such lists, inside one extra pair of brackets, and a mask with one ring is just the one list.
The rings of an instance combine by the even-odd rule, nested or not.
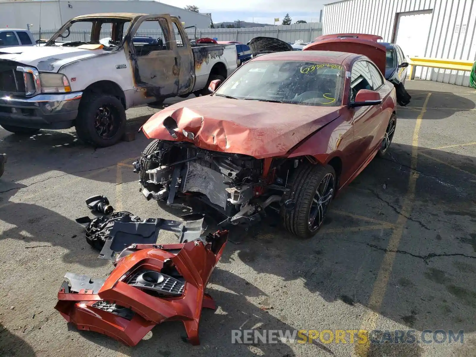
[[(18, 186), (18, 183), (7, 184)], [(0, 232), (0, 241), (6, 238), (19, 240), (23, 243), (18, 247), (20, 250), (59, 246), (68, 250), (61, 257), (65, 263), (92, 268), (107, 265), (106, 260), (98, 259), (97, 252), (86, 244), (84, 228), (51, 209), (30, 203), (8, 202), (16, 191), (12, 189), (0, 196), (0, 218), (6, 223), (6, 228)]]

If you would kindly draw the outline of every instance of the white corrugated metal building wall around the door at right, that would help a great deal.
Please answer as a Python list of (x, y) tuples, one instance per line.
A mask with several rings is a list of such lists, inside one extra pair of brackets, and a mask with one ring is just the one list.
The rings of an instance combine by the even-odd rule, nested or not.
[[(396, 14), (418, 10), (432, 10), (426, 57), (476, 61), (475, 0), (340, 1), (325, 6), (323, 33), (372, 33), (389, 42), (393, 40)], [(421, 77), (469, 86), (469, 72), (464, 71), (424, 69)]]

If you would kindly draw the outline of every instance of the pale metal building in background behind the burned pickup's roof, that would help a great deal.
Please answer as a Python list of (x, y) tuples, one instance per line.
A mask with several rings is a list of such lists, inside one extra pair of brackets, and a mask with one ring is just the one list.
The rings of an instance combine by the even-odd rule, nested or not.
[(210, 14), (199, 14), (153, 0), (0, 0), (0, 28), (30, 27), (52, 32), (79, 15), (98, 12), (139, 12), (179, 16), (185, 26), (210, 27)]

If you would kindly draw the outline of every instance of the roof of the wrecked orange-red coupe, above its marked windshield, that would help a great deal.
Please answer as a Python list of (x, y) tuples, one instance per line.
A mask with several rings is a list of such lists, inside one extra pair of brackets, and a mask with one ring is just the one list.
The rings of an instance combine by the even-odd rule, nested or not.
[(355, 53), (337, 52), (337, 51), (284, 51), (267, 53), (255, 57), (252, 60), (309, 60), (317, 62), (327, 62), (334, 64), (349, 63), (354, 59), (365, 57)]

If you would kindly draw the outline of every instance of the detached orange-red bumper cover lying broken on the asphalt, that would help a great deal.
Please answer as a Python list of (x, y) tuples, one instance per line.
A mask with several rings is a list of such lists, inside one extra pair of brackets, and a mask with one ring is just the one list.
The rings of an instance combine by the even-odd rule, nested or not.
[(228, 231), (178, 244), (132, 244), (105, 280), (67, 273), (55, 308), (79, 329), (96, 331), (135, 346), (157, 324), (181, 320), (188, 341), (198, 345), (205, 293)]

